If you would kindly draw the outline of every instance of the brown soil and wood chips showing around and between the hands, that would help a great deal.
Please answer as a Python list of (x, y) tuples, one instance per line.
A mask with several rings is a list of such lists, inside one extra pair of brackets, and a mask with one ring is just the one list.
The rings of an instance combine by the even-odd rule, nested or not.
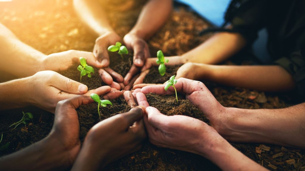
[[(23, 42), (42, 51), (51, 54), (69, 49), (92, 51), (96, 35), (91, 33), (77, 18), (72, 8), (71, 0), (28, 0), (1, 2), (0, 22), (12, 30)], [(133, 10), (128, 15), (115, 15), (111, 23), (116, 31), (123, 36), (131, 29), (136, 21), (139, 9)], [(124, 17), (124, 20), (117, 19)], [(117, 21), (124, 21), (118, 26)], [(208, 25), (198, 16), (185, 9), (176, 9), (168, 23), (149, 40), (149, 48), (152, 56), (157, 50), (162, 50), (165, 55), (180, 55), (196, 47), (206, 40), (207, 36), (199, 37), (198, 33)], [(116, 61), (117, 62), (117, 61)], [(120, 61), (118, 61), (120, 63)], [(126, 74), (124, 68), (128, 68), (131, 61), (126, 58), (125, 63), (115, 70)], [(167, 69), (167, 75), (160, 77), (156, 68), (153, 68), (145, 79), (145, 82), (162, 83), (171, 75), (174, 75), (177, 67)], [(125, 73), (123, 73), (125, 72)], [(61, 72), (63, 75), (79, 81), (79, 72), (76, 67)], [(91, 79), (84, 78), (83, 83), (93, 89), (102, 85), (98, 74)], [(217, 100), (224, 106), (247, 109), (268, 108), (276, 109), (290, 106), (289, 99), (277, 94), (265, 94), (241, 88), (229, 88), (213, 83), (205, 82)], [(179, 102), (175, 102), (174, 96), (147, 95), (151, 106), (157, 107), (164, 114), (184, 114), (196, 117), (208, 123), (204, 115), (196, 109), (182, 95)], [(129, 110), (129, 106), (123, 98), (113, 100), (114, 107), (107, 106), (101, 112), (101, 119), (123, 113)], [(87, 131), (99, 121), (97, 105), (92, 103), (81, 106), (78, 109), (81, 125), (81, 139)], [(8, 126), (20, 120), (22, 111), (34, 114), (34, 124), (19, 126), (12, 130)], [(51, 130), (54, 116), (51, 113), (37, 108), (24, 108), (2, 111), (0, 115), (0, 133), (3, 140), (0, 147), (10, 142), (6, 150), (0, 151), (0, 156), (13, 153), (36, 141), (44, 138)], [(304, 151), (294, 148), (276, 145), (242, 144), (233, 143), (242, 153), (271, 170), (304, 170)], [(269, 148), (270, 147), (270, 148)], [(291, 162), (292, 164), (288, 164)], [(217, 170), (218, 168), (207, 159), (188, 152), (158, 148), (147, 140), (139, 152), (109, 164), (106, 170)]]

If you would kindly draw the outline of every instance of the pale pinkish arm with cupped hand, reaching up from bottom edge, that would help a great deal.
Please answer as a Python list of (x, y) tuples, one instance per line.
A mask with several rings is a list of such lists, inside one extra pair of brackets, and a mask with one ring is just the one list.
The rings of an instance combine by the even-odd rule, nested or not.
[(152, 144), (202, 155), (222, 170), (267, 170), (232, 147), (206, 123), (182, 115), (163, 115), (149, 107), (142, 92), (136, 94), (136, 99), (146, 107), (144, 123)]

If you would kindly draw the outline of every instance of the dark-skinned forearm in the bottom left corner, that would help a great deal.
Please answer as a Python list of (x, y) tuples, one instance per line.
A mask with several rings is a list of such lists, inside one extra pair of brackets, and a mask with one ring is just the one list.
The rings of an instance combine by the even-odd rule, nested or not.
[[(50, 136), (18, 152), (0, 158), (0, 170), (65, 170), (70, 163), (56, 150), (56, 139)], [(16, 164), (18, 161), (18, 164)]]

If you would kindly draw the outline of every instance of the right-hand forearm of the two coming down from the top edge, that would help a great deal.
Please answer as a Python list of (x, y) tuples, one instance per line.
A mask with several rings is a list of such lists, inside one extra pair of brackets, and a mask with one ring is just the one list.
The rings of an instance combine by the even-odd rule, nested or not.
[(148, 40), (166, 22), (171, 10), (172, 0), (150, 0), (129, 33)]

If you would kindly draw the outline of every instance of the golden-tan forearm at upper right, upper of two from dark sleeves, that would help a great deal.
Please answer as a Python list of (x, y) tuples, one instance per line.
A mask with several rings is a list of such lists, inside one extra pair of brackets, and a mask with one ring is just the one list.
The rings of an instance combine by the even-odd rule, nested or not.
[(240, 51), (245, 45), (246, 40), (238, 33), (217, 33), (182, 57), (185, 62), (217, 64)]

